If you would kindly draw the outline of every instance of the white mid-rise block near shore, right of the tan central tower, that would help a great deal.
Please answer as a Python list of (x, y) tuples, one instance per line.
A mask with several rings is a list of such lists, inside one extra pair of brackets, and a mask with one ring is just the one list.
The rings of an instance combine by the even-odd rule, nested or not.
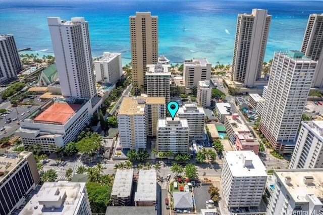
[(198, 81), (210, 80), (212, 64), (203, 59), (192, 59), (184, 62), (183, 80), (187, 88), (197, 87)]

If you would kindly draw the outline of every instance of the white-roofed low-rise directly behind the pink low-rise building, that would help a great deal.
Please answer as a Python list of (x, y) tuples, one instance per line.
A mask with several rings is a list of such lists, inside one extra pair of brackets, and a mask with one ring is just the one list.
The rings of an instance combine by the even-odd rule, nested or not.
[(238, 134), (250, 133), (248, 126), (244, 124), (238, 114), (225, 116), (224, 126), (228, 134), (228, 139), (232, 144), (236, 142), (236, 137)]

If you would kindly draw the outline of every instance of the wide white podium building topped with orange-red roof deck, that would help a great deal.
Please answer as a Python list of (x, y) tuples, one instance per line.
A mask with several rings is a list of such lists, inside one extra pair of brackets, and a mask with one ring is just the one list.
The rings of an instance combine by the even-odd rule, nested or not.
[(20, 119), (16, 135), (24, 146), (41, 144), (42, 152), (52, 152), (51, 144), (64, 147), (74, 141), (79, 132), (90, 122), (90, 100), (57, 98), (49, 100), (38, 109)]

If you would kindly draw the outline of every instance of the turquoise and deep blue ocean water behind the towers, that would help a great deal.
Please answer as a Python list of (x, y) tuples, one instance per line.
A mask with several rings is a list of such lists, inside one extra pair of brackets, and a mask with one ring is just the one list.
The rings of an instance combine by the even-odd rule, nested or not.
[(253, 8), (266, 9), (273, 16), (265, 53), (265, 61), (269, 61), (275, 50), (300, 49), (308, 16), (323, 13), (323, 2), (2, 0), (0, 33), (13, 33), (18, 48), (52, 52), (46, 17), (85, 17), (92, 56), (104, 51), (122, 52), (126, 64), (131, 59), (129, 16), (150, 11), (158, 16), (159, 55), (171, 62), (207, 58), (213, 65), (231, 64), (237, 15), (251, 13)]

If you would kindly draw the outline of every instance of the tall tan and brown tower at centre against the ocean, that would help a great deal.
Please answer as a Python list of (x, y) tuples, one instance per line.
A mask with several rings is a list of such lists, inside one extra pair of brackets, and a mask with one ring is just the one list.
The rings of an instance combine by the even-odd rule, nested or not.
[(158, 17), (150, 12), (136, 12), (130, 16), (130, 43), (132, 83), (134, 90), (146, 88), (147, 64), (156, 64), (158, 59)]

